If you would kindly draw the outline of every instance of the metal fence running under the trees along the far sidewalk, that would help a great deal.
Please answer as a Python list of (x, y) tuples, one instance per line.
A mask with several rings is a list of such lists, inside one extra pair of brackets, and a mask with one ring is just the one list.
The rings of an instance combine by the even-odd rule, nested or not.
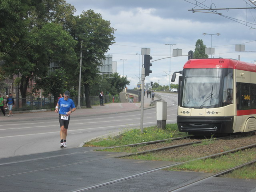
[[(114, 102), (119, 102), (119, 98), (113, 96), (103, 96), (103, 102), (109, 103), (112, 102), (112, 98), (114, 98)], [(70, 97), (74, 101), (75, 106), (78, 104), (78, 97)], [(99, 97), (89, 97), (90, 105), (99, 105), (100, 98)], [(12, 108), (13, 111), (22, 111), (22, 110), (38, 110), (38, 109), (53, 109), (54, 106), (54, 98), (14, 98), (15, 105)], [(23, 102), (23, 104), (22, 104)], [(4, 100), (4, 104), (6, 100)], [(19, 103), (19, 105), (17, 105)], [(80, 98), (80, 106), (86, 106), (85, 98)]]

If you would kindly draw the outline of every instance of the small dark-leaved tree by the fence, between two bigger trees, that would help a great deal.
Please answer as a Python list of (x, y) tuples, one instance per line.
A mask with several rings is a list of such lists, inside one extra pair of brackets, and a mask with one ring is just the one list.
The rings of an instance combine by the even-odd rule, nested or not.
[(54, 96), (54, 106), (57, 104), (58, 96), (63, 93), (67, 88), (67, 80), (65, 70), (62, 68), (56, 69), (48, 73), (43, 78), (37, 78), (35, 80), (35, 90), (43, 89), (46, 94), (52, 94)]

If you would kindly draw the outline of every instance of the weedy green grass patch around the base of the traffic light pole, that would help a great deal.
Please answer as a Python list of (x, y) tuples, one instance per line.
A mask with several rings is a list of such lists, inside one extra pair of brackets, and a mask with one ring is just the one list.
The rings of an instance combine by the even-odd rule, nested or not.
[(124, 132), (119, 137), (98, 138), (86, 143), (84, 146), (122, 146), (127, 144), (169, 139), (187, 135), (188, 134), (186, 133), (181, 133), (178, 131), (177, 124), (167, 124), (166, 129), (164, 130), (158, 129), (156, 126), (151, 126), (144, 128), (143, 133), (141, 133), (140, 129), (124, 130)]

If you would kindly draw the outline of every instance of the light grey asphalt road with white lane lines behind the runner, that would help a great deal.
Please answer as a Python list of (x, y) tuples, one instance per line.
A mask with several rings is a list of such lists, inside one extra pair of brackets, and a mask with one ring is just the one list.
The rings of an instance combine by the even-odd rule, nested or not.
[[(160, 93), (167, 102), (167, 123), (176, 122), (178, 94)], [(40, 115), (40, 114), (39, 114)], [(144, 110), (144, 127), (156, 125), (156, 108)], [(80, 146), (84, 141), (102, 135), (118, 134), (140, 126), (140, 110), (116, 114), (99, 114), (71, 118), (67, 145)], [(56, 119), (2, 122), (0, 125), (0, 158), (60, 150), (59, 122)]]

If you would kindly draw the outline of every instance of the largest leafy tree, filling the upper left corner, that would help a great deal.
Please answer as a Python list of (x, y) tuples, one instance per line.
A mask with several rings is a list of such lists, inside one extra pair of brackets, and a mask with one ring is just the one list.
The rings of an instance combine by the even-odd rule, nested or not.
[(76, 41), (62, 27), (73, 10), (64, 0), (1, 1), (0, 60), (5, 65), (0, 72), (10, 77), (20, 74), (22, 98), (26, 98), (29, 81), (45, 76), (50, 62), (76, 58)]

